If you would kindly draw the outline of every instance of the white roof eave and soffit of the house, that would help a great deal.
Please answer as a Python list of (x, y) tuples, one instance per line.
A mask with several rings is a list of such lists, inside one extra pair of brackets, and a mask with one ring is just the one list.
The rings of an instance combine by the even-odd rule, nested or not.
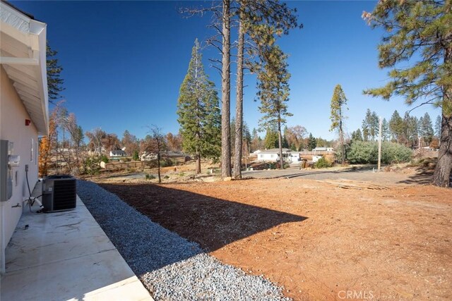
[(46, 24), (0, 2), (0, 63), (40, 135), (49, 130)]

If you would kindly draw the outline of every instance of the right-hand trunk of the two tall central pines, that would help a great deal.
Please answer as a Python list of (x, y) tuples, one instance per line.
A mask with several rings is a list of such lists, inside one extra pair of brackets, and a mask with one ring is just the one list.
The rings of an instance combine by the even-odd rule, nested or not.
[(243, 51), (244, 28), (239, 22), (239, 45), (237, 49), (237, 98), (235, 105), (235, 151), (234, 178), (242, 178), (242, 137), (243, 137)]

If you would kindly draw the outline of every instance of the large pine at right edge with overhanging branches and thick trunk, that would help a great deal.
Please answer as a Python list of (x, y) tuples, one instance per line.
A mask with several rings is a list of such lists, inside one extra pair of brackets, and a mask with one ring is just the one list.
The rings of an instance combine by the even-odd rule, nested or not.
[[(383, 27), (379, 66), (393, 68), (383, 87), (364, 91), (374, 97), (405, 97), (407, 104), (441, 106), (441, 135), (434, 185), (449, 187), (452, 172), (452, 4), (446, 1), (379, 1), (363, 13), (372, 27)], [(405, 63), (419, 58), (414, 63)], [(406, 67), (400, 66), (404, 63)], [(420, 104), (420, 105), (422, 105)]]

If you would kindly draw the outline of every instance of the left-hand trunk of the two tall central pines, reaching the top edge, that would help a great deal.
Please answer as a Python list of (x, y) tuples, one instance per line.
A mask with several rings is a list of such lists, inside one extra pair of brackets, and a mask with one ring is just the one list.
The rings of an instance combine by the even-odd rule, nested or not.
[(231, 27), (230, 0), (223, 0), (222, 10), (222, 74), (221, 74), (221, 177), (231, 176)]

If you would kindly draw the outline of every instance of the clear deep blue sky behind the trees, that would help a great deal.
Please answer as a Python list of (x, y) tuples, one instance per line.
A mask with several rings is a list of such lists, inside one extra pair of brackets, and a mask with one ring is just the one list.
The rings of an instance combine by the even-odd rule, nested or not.
[[(66, 107), (76, 114), (83, 130), (100, 127), (122, 136), (124, 130), (144, 137), (146, 125), (177, 133), (177, 97), (189, 66), (196, 38), (213, 34), (206, 28), (210, 17), (184, 18), (179, 8), (208, 6), (195, 1), (11, 1), (47, 23), (47, 39), (63, 66), (62, 92)], [(383, 85), (387, 70), (379, 70), (376, 46), (380, 30), (371, 30), (362, 11), (374, 1), (289, 1), (296, 7), (302, 30), (292, 30), (278, 44), (289, 54), (290, 80), (287, 126), (302, 125), (316, 137), (335, 139), (329, 132), (330, 102), (335, 85), (348, 99), (348, 132), (360, 127), (369, 108), (389, 119), (408, 106), (403, 99), (385, 102), (364, 96), (367, 87)], [(209, 67), (215, 49), (203, 51), (206, 72), (220, 90), (220, 76)], [(235, 73), (235, 66), (232, 66)], [(258, 128), (256, 80), (246, 75), (244, 121)], [(231, 87), (234, 115), (235, 79)], [(428, 112), (432, 121), (439, 109), (422, 106), (412, 115)], [(263, 136), (264, 134), (261, 134)]]

